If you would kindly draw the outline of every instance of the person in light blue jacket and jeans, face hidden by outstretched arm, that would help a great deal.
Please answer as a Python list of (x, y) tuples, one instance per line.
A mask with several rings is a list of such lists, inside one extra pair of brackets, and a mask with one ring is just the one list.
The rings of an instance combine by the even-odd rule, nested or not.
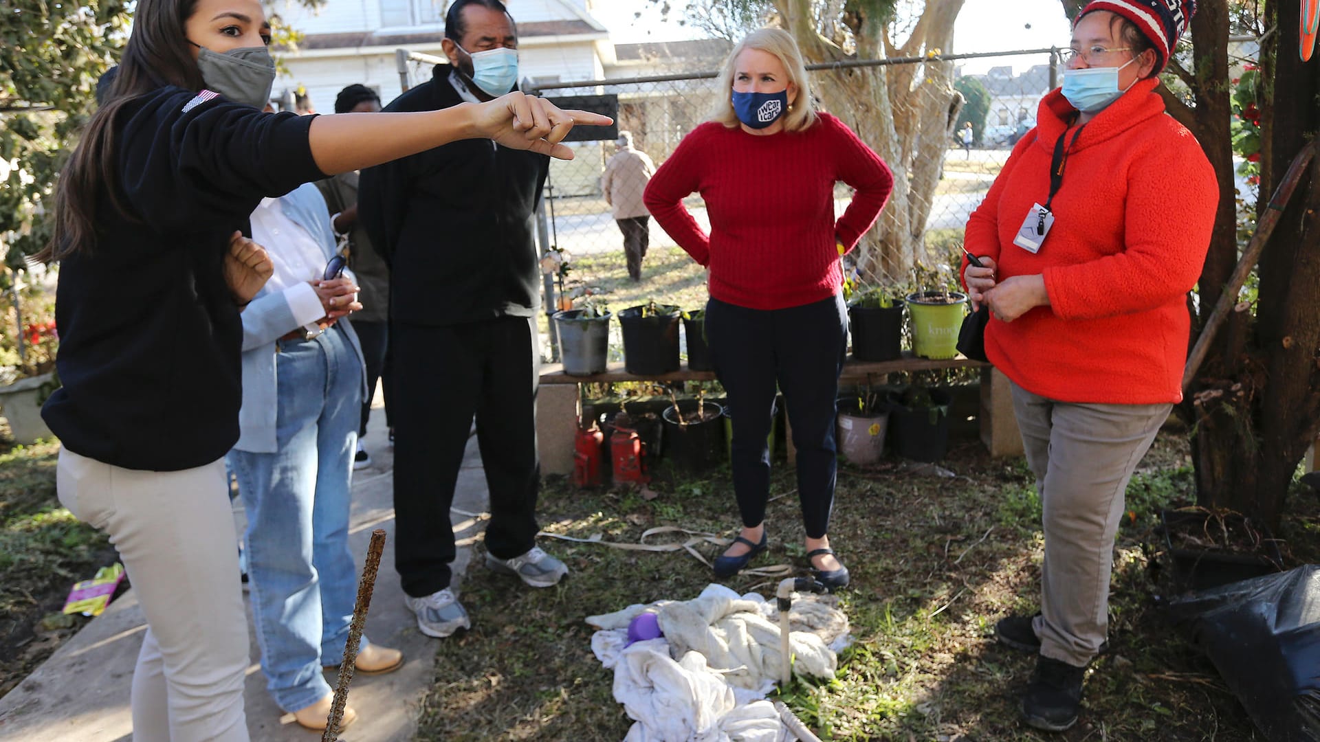
[[(358, 586), (348, 510), (366, 371), (346, 317), (360, 304), (351, 277), (322, 280), (337, 247), (315, 186), (261, 199), (251, 222), (275, 275), (243, 312), (240, 436), (228, 461), (247, 514), (267, 689), (301, 726), (319, 730), (334, 698), (321, 667), (343, 656)], [(403, 661), (363, 636), (355, 664), (380, 673)], [(346, 709), (343, 724), (354, 718)]]

